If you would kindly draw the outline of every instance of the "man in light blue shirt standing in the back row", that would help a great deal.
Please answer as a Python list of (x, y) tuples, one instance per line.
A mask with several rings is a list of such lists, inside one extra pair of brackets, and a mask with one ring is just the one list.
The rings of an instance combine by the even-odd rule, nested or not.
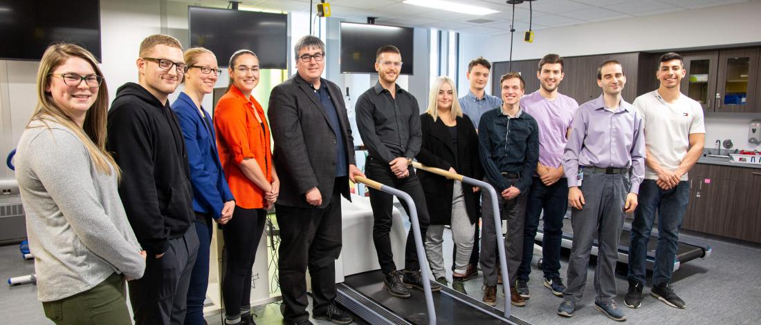
[[(502, 106), (502, 99), (497, 96), (492, 96), (486, 93), (486, 84), (489, 84), (489, 73), (492, 69), (492, 64), (479, 56), (474, 58), (468, 64), (468, 72), (465, 74), (470, 82), (470, 91), (467, 95), (460, 97), (460, 107), (463, 109), (463, 114), (468, 115), (470, 121), (473, 121), (473, 126), (478, 130), (478, 123), (481, 121), (481, 115), (485, 112), (489, 112), (492, 109), (498, 109)], [(473, 238), (473, 252), (470, 254), (470, 261), (468, 262), (468, 268), (463, 276), (463, 280), (467, 281), (471, 277), (478, 274), (479, 263), (479, 227), (476, 226), (476, 234)], [(455, 249), (457, 249), (455, 247)], [(454, 255), (453, 255), (454, 256)]]

